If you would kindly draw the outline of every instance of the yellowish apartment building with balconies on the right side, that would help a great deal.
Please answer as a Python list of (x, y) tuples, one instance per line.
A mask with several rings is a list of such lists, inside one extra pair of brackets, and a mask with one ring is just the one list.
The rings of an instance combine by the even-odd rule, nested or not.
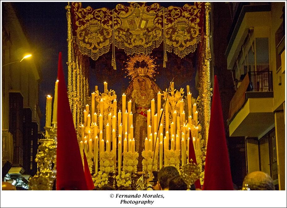
[(233, 3), (227, 68), (236, 92), (230, 137), (245, 137), (246, 174), (263, 171), (285, 190), (285, 3)]

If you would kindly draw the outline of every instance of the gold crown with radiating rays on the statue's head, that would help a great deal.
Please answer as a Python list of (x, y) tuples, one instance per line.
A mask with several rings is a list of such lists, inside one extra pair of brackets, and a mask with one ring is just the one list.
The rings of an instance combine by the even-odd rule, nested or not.
[(130, 76), (132, 80), (138, 76), (148, 76), (153, 79), (155, 76), (155, 66), (155, 59), (149, 55), (135, 55), (134, 57), (130, 57), (127, 62), (127, 75)]

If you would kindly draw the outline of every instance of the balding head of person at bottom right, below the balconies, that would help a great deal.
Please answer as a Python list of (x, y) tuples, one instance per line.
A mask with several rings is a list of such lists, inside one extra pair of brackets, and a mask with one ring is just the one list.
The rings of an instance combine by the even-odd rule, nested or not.
[(275, 190), (272, 178), (265, 172), (255, 171), (245, 176), (243, 190)]

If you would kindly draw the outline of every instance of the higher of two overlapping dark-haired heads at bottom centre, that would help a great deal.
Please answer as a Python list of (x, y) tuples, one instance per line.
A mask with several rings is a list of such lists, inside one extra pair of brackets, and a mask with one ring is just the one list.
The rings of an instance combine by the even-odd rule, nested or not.
[(157, 176), (160, 190), (168, 190), (168, 180), (174, 176), (179, 176), (176, 167), (167, 166), (161, 168)]

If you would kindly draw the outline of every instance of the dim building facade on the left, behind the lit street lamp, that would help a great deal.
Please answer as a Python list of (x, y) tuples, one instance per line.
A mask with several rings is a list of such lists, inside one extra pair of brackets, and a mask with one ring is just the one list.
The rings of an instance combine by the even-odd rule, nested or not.
[(2, 168), (19, 178), (37, 172), (40, 74), (32, 58), (20, 62), (31, 48), (11, 3), (2, 12)]

